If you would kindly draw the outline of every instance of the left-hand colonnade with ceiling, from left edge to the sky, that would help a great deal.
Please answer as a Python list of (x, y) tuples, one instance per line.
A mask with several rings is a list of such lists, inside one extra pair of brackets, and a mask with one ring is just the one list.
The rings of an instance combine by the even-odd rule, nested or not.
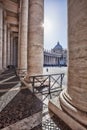
[(44, 0), (0, 2), (1, 71), (14, 66), (26, 80), (43, 73), (43, 20)]

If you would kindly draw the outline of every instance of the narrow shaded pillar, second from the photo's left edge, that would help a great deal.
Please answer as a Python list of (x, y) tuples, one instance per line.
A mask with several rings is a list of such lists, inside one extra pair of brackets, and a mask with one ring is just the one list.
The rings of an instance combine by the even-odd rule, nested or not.
[(3, 68), (7, 67), (7, 24), (4, 22)]

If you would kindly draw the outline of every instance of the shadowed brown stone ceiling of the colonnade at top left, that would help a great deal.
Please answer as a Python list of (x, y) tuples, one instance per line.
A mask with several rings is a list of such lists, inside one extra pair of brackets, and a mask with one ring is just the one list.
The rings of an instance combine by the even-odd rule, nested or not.
[(4, 22), (11, 32), (18, 33), (20, 0), (0, 0), (4, 9)]

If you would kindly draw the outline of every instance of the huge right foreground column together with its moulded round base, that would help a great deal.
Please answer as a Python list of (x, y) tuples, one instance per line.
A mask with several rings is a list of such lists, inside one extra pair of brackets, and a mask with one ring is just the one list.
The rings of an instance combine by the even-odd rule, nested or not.
[(61, 118), (73, 130), (87, 130), (87, 0), (68, 0), (68, 51), (68, 88), (59, 97)]

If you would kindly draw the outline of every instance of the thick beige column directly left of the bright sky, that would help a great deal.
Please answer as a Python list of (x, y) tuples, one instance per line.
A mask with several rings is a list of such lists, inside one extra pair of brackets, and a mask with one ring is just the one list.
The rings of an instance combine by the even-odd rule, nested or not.
[(29, 8), (29, 42), (28, 75), (43, 73), (43, 18), (44, 0), (30, 0)]

